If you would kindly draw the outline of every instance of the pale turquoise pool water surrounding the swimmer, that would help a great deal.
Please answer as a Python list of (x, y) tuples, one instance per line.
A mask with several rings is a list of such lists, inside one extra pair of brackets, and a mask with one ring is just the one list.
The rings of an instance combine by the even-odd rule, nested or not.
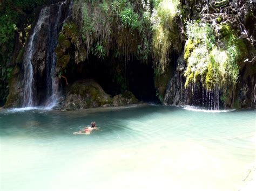
[[(255, 110), (0, 111), (0, 190), (238, 190)], [(99, 130), (73, 135), (91, 121)]]

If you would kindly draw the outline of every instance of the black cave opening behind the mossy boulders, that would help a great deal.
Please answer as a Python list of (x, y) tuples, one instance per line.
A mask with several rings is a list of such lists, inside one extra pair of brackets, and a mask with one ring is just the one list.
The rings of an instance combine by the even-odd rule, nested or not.
[[(69, 64), (66, 77), (69, 83), (77, 80), (93, 79), (107, 94), (115, 96), (125, 90), (131, 91), (139, 101), (158, 102), (154, 87), (152, 62), (142, 63), (138, 59), (130, 61), (118, 59), (99, 59), (90, 56), (85, 62)], [(65, 80), (62, 79), (62, 87)]]

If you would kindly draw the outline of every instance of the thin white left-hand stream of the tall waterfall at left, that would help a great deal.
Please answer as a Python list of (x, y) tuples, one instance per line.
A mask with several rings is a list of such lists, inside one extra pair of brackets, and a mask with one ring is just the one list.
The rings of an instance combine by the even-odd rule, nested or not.
[(31, 37), (29, 38), (29, 44), (25, 49), (23, 67), (24, 67), (24, 100), (23, 107), (33, 107), (35, 105), (35, 83), (33, 80), (33, 66), (31, 58), (34, 49), (34, 40), (37, 37), (38, 31), (40, 31), (42, 23), (45, 22), (47, 17), (46, 12), (49, 10), (48, 7), (43, 8), (39, 14), (38, 22), (33, 30)]

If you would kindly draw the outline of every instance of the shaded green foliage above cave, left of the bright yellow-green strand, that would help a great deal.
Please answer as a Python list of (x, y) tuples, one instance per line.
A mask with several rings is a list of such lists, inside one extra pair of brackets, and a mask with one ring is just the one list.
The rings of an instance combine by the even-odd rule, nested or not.
[(76, 1), (72, 17), (82, 34), (87, 56), (92, 53), (104, 59), (110, 52), (119, 52), (126, 62), (133, 55), (146, 62), (151, 52), (150, 2), (143, 3), (138, 9), (128, 0)]

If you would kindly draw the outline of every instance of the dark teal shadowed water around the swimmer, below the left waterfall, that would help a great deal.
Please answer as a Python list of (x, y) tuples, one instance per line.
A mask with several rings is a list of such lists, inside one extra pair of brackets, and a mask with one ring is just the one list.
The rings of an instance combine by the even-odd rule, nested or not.
[[(152, 107), (153, 111), (153, 107)], [(73, 132), (90, 126), (96, 121), (98, 135), (125, 130), (125, 121), (139, 120), (147, 115), (144, 107), (120, 109), (89, 109), (78, 111), (43, 111), (29, 110), (23, 112), (0, 111), (1, 136), (57, 136), (72, 135)], [(51, 132), (49, 134), (49, 132)], [(93, 135), (94, 133), (92, 133)], [(73, 136), (73, 135), (72, 135)]]

